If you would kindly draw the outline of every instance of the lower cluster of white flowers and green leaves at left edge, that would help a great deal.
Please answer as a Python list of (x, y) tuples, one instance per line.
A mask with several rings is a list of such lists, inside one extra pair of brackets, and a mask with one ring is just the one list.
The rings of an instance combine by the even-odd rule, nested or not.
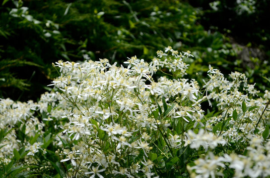
[[(71, 105), (59, 92), (46, 92), (38, 102), (0, 99), (0, 133), (6, 132), (0, 140), (0, 162), (8, 166), (12, 159), (20, 160), (29, 174), (29, 167), (37, 164), (47, 171), (54, 169), (44, 157), (50, 153), (47, 149), (51, 143), (63, 149), (63, 142), (70, 140), (59, 133), (63, 128), (61, 116), (70, 109)], [(44, 172), (32, 169), (35, 173), (39, 171)]]

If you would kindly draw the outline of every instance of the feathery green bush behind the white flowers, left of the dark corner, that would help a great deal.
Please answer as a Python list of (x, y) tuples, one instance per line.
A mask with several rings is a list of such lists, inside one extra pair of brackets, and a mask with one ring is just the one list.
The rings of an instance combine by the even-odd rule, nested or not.
[(228, 71), (234, 65), (229, 40), (204, 31), (199, 11), (178, 0), (7, 0), (0, 8), (0, 95), (14, 100), (36, 100), (57, 76), (51, 63), (61, 59), (121, 64), (136, 54), (150, 61), (171, 45), (193, 51), (190, 78), (209, 63)]

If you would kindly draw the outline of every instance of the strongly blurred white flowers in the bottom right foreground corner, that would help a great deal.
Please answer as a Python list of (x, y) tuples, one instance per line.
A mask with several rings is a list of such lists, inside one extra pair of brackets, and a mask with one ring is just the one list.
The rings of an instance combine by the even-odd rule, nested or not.
[(268, 178), (270, 176), (270, 141), (263, 146), (263, 139), (253, 138), (247, 147), (247, 155), (231, 153), (223, 156), (214, 156), (209, 152), (205, 158), (195, 161), (196, 166), (188, 166), (188, 170), (194, 170), (191, 178), (215, 178), (224, 176), (222, 170), (225, 167), (234, 170), (233, 178)]

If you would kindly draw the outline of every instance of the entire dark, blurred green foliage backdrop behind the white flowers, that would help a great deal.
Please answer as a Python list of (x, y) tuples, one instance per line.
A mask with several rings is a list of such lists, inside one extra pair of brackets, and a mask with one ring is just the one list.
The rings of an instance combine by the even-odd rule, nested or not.
[(0, 98), (37, 101), (58, 60), (150, 62), (168, 45), (192, 52), (187, 77), (200, 84), (210, 64), (269, 89), (269, 9), (270, 0), (0, 0)]

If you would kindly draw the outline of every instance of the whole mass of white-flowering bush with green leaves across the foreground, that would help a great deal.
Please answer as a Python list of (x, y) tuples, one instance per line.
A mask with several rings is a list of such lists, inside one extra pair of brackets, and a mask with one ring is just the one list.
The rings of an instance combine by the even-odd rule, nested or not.
[[(56, 62), (58, 91), (38, 103), (0, 100), (0, 175), (269, 177), (270, 92), (258, 97), (244, 74), (228, 81), (210, 65), (199, 86), (184, 77), (190, 57), (168, 46), (127, 67)], [(154, 81), (158, 70), (173, 79)]]

